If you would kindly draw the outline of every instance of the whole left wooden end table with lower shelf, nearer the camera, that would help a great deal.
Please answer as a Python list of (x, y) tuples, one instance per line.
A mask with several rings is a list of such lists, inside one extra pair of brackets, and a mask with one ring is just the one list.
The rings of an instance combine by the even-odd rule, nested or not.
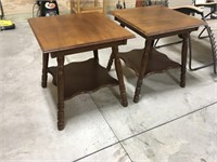
[[(135, 36), (101, 13), (67, 14), (29, 18), (28, 23), (42, 51), (42, 87), (47, 87), (48, 72), (58, 86), (58, 129), (65, 126), (64, 100), (101, 87), (119, 85), (122, 105), (127, 106), (118, 45)], [(98, 50), (112, 48), (117, 80), (99, 64)], [(93, 58), (64, 65), (66, 55), (93, 51)], [(58, 66), (49, 67), (49, 56)]]

